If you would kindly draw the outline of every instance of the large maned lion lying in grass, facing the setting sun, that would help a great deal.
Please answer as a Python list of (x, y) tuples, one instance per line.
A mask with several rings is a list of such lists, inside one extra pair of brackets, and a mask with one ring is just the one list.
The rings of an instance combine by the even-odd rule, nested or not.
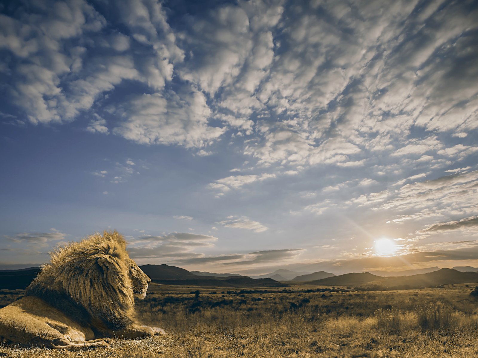
[(105, 231), (58, 248), (18, 301), (0, 309), (0, 341), (20, 347), (109, 347), (112, 337), (164, 334), (134, 319), (134, 297), (151, 279), (126, 251), (118, 232)]

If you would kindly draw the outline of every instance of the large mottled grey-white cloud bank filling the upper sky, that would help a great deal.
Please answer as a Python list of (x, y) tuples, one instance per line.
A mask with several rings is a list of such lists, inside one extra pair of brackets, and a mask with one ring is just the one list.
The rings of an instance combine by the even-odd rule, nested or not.
[[(478, 127), (473, 1), (255, 0), (194, 14), (170, 6), (4, 8), (3, 95), (32, 123), (89, 115), (88, 131), (142, 144), (206, 147), (226, 132), (245, 136), (243, 153), (261, 165), (476, 151), (409, 137), (413, 127), (455, 138)], [(125, 95), (126, 82), (137, 86)]]

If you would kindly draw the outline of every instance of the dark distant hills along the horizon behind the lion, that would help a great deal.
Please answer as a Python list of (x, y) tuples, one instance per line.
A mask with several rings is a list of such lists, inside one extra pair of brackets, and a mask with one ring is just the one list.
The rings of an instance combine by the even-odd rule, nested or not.
[[(241, 276), (239, 274), (215, 274), (209, 272), (190, 272), (183, 268), (162, 265), (142, 265), (141, 270), (158, 284), (212, 286), (212, 287), (287, 287), (284, 281), (306, 285), (324, 286), (381, 286), (385, 288), (420, 288), (443, 284), (478, 283), (478, 268), (456, 266), (453, 269), (435, 270), (429, 267), (420, 270), (398, 271), (393, 274), (377, 275), (377, 271), (334, 275), (324, 271), (300, 273), (291, 270), (277, 270), (261, 276)], [(38, 274), (39, 267), (20, 270), (0, 270), (0, 289), (24, 289)], [(472, 271), (474, 270), (474, 271)], [(424, 272), (425, 271), (425, 272)], [(429, 271), (429, 272), (426, 272)], [(421, 272), (419, 274), (410, 274)], [(294, 275), (290, 278), (293, 274)], [(401, 275), (397, 275), (401, 274)], [(409, 275), (407, 275), (409, 274)], [(264, 277), (268, 276), (268, 277)], [(281, 282), (279, 282), (281, 281)]]

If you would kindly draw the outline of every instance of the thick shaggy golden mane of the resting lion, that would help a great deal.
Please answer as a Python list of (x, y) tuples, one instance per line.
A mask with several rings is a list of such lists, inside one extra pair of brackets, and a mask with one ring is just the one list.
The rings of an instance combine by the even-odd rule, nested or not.
[(122, 235), (96, 233), (56, 249), (25, 296), (38, 296), (80, 323), (99, 320), (110, 329), (123, 329), (134, 322), (127, 259)]

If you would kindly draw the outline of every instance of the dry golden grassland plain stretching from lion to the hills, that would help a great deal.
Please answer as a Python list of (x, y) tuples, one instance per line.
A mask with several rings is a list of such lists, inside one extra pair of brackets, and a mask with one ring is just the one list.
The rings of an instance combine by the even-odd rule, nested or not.
[[(152, 284), (138, 315), (165, 336), (79, 353), (0, 347), (0, 357), (475, 357), (474, 286), (362, 292)], [(0, 292), (0, 305), (21, 295)]]

